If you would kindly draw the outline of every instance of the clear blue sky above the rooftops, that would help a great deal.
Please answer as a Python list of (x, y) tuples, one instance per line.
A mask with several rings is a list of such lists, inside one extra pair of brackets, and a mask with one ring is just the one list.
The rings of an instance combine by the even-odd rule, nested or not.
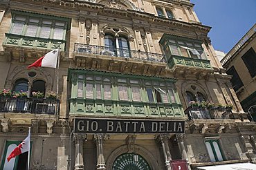
[(190, 0), (215, 50), (229, 50), (256, 23), (256, 0)]

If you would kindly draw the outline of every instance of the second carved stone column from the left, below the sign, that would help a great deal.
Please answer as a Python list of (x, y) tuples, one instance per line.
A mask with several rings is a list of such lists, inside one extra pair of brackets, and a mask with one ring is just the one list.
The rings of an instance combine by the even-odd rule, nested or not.
[(94, 140), (97, 148), (97, 157), (98, 157), (97, 165), (96, 165), (97, 169), (106, 169), (106, 164), (105, 164), (104, 155), (103, 155), (103, 147), (102, 147), (104, 139), (105, 137), (102, 134), (94, 135)]

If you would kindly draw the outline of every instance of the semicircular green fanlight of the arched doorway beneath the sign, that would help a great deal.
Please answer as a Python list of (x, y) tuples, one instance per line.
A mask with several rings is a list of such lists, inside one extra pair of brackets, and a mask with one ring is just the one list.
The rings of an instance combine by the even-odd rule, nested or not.
[(134, 153), (124, 153), (119, 155), (118, 158), (113, 162), (113, 170), (150, 170), (149, 164), (141, 156), (138, 156), (135, 161)]

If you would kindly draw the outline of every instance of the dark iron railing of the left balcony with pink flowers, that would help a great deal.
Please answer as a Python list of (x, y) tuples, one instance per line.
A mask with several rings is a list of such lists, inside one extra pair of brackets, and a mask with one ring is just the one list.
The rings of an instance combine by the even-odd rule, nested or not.
[(0, 98), (0, 113), (41, 113), (57, 115), (60, 101), (52, 98)]

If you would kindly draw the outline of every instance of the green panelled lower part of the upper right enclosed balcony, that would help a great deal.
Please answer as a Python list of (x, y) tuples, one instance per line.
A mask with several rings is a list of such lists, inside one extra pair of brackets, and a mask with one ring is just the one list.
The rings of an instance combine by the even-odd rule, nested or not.
[(207, 59), (196, 59), (192, 57), (182, 57), (178, 55), (171, 55), (168, 61), (168, 66), (175, 70), (177, 67), (191, 67), (201, 68), (206, 70), (212, 70), (210, 60)]

